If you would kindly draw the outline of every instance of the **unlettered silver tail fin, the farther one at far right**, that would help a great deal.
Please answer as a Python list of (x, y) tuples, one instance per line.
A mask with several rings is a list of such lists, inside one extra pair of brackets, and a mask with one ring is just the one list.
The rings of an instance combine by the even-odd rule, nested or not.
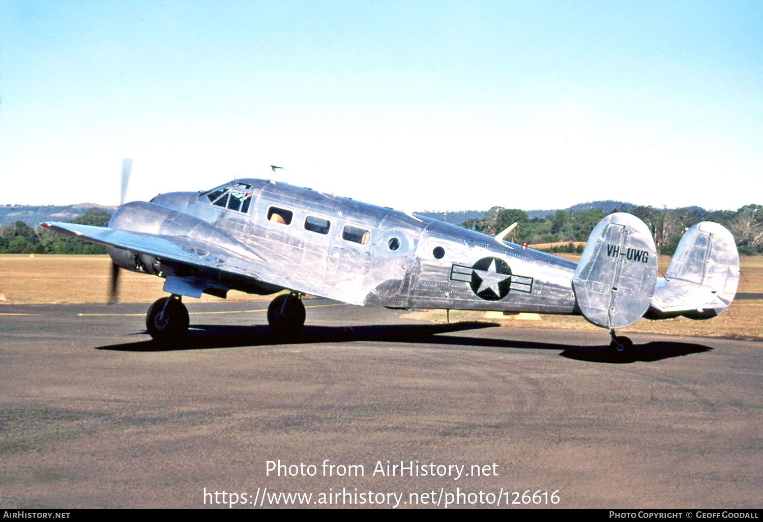
[(715, 317), (731, 304), (738, 284), (739, 253), (734, 237), (723, 225), (703, 221), (681, 237), (644, 317)]

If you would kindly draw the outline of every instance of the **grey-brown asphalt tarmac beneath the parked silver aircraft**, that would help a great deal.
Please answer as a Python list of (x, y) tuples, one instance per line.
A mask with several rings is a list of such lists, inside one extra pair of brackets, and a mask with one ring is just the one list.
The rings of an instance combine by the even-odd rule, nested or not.
[(0, 307), (0, 508), (763, 506), (761, 343), (617, 363), (604, 330), (306, 302), (287, 343), (266, 301), (189, 304), (177, 346), (146, 304)]

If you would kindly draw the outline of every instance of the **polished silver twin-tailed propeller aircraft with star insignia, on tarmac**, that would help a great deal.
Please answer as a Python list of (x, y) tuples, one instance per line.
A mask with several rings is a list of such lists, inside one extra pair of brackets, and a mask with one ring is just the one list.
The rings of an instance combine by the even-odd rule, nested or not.
[(166, 279), (169, 297), (146, 314), (155, 340), (185, 336), (183, 296), (286, 289), (268, 308), (277, 334), (301, 329), (301, 295), (310, 294), (385, 308), (582, 315), (610, 330), (610, 350), (625, 359), (633, 357), (633, 343), (615, 335), (617, 328), (639, 317), (714, 317), (739, 282), (732, 234), (709, 221), (685, 232), (665, 277), (658, 277), (652, 234), (631, 214), (604, 217), (573, 263), (504, 241), (505, 234), (491, 237), (272, 179), (133, 201), (108, 227), (43, 226), (108, 246), (112, 298), (118, 267)]

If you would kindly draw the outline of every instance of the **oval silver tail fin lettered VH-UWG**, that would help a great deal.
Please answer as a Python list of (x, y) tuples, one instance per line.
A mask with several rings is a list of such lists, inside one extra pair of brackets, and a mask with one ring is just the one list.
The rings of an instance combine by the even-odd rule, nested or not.
[(657, 252), (649, 227), (617, 212), (599, 221), (588, 237), (572, 288), (581, 314), (613, 329), (642, 317), (656, 282)]

